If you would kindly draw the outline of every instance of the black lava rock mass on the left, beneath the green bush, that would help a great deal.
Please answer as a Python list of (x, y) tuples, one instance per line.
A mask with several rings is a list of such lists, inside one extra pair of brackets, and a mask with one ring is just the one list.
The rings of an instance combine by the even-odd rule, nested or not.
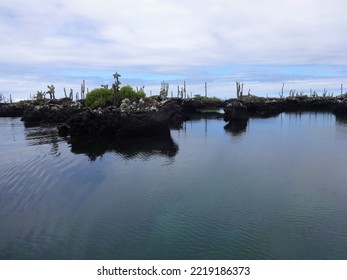
[(70, 99), (21, 101), (1, 104), (0, 117), (21, 117), (26, 125), (57, 125), (61, 136), (113, 135), (134, 137), (165, 134), (183, 122), (183, 109), (175, 100), (151, 99), (131, 103), (123, 100), (119, 107), (90, 109), (83, 101)]

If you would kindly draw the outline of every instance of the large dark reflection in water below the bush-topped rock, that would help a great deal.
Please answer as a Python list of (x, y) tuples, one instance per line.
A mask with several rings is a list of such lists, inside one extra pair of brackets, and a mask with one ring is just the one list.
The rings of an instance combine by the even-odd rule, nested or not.
[(70, 143), (73, 153), (85, 154), (92, 161), (108, 152), (116, 152), (126, 159), (149, 158), (155, 155), (172, 158), (178, 152), (178, 145), (169, 134), (129, 139), (114, 137), (71, 138)]

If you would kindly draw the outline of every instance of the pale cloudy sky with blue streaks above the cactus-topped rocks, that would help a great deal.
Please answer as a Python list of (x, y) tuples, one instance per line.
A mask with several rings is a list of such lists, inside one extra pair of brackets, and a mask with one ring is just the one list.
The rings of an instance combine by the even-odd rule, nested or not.
[(0, 0), (0, 93), (162, 81), (223, 99), (347, 91), (345, 0)]

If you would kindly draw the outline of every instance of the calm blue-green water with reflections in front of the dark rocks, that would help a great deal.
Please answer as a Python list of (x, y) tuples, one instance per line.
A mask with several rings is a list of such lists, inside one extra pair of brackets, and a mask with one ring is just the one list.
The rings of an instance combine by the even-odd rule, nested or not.
[(71, 142), (0, 118), (0, 259), (347, 259), (347, 121)]

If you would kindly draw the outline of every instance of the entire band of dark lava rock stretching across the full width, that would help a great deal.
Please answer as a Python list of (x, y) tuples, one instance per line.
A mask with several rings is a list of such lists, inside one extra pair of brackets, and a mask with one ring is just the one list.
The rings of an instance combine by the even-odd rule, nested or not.
[(64, 98), (0, 104), (0, 117), (21, 117), (26, 125), (54, 124), (62, 136), (135, 137), (164, 135), (170, 132), (170, 128), (180, 127), (192, 113), (221, 108), (225, 111), (226, 122), (297, 111), (327, 111), (336, 116), (347, 116), (347, 96), (244, 97), (226, 101), (144, 98), (138, 103), (123, 100), (119, 107), (108, 106), (94, 110), (86, 108), (83, 100), (72, 102)]

